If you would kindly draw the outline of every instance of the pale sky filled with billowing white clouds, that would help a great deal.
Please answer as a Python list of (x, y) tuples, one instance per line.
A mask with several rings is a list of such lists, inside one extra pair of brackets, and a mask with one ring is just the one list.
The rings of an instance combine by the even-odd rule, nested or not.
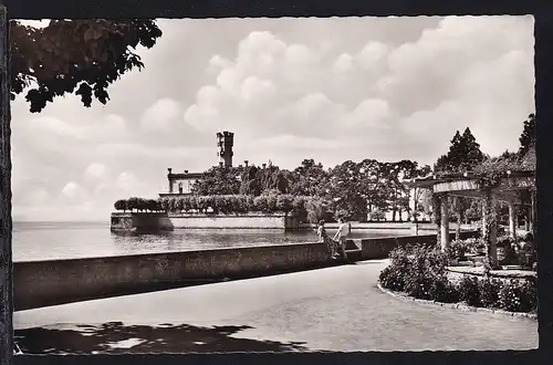
[(160, 20), (146, 67), (111, 102), (12, 104), (14, 220), (107, 220), (156, 197), (167, 168), (409, 158), (432, 164), (469, 126), (484, 153), (518, 148), (534, 111), (532, 17)]

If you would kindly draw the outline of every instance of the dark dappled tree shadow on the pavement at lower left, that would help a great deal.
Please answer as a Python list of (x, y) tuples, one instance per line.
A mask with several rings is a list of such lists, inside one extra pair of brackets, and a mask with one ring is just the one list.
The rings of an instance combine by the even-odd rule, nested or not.
[[(34, 327), (17, 330), (14, 341), (24, 354), (92, 353), (212, 353), (212, 352), (299, 352), (305, 343), (280, 343), (231, 337), (251, 326), (197, 327), (188, 324), (75, 325), (74, 330)], [(117, 347), (117, 343), (125, 348)]]

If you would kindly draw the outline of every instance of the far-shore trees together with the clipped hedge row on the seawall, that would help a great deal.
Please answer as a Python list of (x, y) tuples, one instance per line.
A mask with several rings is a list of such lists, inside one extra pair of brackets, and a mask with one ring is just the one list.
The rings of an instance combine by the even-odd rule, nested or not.
[[(163, 210), (247, 212), (294, 211), (309, 221), (347, 218), (354, 220), (384, 220), (392, 211), (393, 220), (401, 220), (403, 212), (413, 215), (409, 189), (403, 179), (426, 176), (429, 166), (401, 160), (380, 163), (365, 159), (347, 160), (325, 169), (314, 159), (304, 159), (293, 170), (281, 169), (269, 163), (258, 167), (216, 166), (192, 186), (192, 195), (163, 197), (150, 200), (132, 198), (117, 200), (117, 210)], [(424, 210), (422, 206), (418, 207)]]

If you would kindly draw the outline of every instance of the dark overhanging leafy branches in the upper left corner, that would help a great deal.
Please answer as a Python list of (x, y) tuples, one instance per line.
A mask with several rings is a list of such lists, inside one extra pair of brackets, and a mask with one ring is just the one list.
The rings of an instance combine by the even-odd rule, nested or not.
[(30, 111), (39, 113), (65, 94), (109, 100), (107, 86), (144, 67), (138, 45), (152, 48), (161, 36), (154, 20), (52, 20), (45, 28), (10, 23), (11, 98), (27, 91)]

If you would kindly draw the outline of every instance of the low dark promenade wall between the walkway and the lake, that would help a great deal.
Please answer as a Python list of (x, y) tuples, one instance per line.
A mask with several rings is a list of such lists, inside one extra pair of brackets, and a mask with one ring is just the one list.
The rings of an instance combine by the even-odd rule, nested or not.
[[(436, 234), (349, 240), (353, 260), (396, 247), (436, 244)], [(13, 262), (15, 311), (155, 290), (302, 271), (334, 264), (323, 243)]]

